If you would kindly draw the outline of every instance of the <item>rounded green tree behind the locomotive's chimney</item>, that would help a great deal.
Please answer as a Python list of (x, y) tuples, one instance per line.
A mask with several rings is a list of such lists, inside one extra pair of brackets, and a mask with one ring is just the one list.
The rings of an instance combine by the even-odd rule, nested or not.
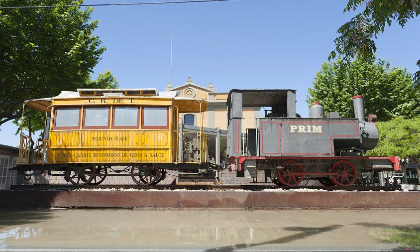
[(356, 59), (346, 65), (341, 58), (322, 63), (314, 87), (308, 89), (309, 105), (319, 101), (326, 113), (354, 118), (351, 97), (363, 95), (366, 115), (376, 114), (381, 121), (420, 116), (420, 89), (406, 69), (390, 67), (389, 62), (375, 58)]

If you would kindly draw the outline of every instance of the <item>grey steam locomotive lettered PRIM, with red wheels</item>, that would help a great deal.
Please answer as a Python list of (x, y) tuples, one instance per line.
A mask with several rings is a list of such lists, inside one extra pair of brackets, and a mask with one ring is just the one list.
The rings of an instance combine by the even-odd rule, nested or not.
[[(297, 186), (304, 179), (349, 186), (362, 172), (399, 170), (398, 157), (363, 156), (378, 142), (373, 122), (366, 122), (363, 96), (354, 96), (355, 118), (324, 117), (314, 103), (310, 118), (296, 114), (295, 90), (231, 90), (228, 95), (227, 162), (238, 176), (257, 178), (265, 170), (273, 183)], [(270, 107), (243, 128), (243, 107)], [(375, 119), (374, 115), (370, 119)], [(368, 120), (372, 121), (372, 120)]]

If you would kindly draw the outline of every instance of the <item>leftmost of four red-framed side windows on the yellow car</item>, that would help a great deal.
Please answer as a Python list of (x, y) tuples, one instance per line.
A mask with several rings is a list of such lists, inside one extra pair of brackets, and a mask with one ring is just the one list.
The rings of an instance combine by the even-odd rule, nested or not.
[(80, 108), (55, 108), (54, 129), (78, 129)]

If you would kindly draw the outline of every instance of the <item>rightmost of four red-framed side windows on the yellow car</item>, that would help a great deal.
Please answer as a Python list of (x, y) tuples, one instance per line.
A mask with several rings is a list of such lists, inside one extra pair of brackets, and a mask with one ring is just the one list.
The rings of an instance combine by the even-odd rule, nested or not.
[(169, 108), (168, 107), (143, 107), (142, 128), (168, 129)]

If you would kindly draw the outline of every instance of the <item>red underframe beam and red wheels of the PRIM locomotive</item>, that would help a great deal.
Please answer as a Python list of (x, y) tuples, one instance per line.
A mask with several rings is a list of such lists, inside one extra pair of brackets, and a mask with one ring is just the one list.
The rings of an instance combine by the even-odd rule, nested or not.
[[(246, 159), (284, 160), (284, 163), (281, 165), (283, 168), (277, 170), (277, 179), (278, 184), (286, 186), (299, 185), (304, 179), (304, 176), (329, 176), (331, 178), (331, 182), (335, 185), (352, 185), (357, 179), (357, 169), (349, 160), (388, 159), (393, 163), (394, 170), (397, 171), (401, 169), (400, 158), (396, 156), (232, 156), (228, 159), (230, 164), (235, 164), (231, 166), (231, 170), (235, 171), (236, 168), (239, 171), (242, 170), (242, 163)], [(331, 166), (331, 172), (305, 172), (303, 166), (297, 162), (296, 159), (329, 159), (335, 162)]]

